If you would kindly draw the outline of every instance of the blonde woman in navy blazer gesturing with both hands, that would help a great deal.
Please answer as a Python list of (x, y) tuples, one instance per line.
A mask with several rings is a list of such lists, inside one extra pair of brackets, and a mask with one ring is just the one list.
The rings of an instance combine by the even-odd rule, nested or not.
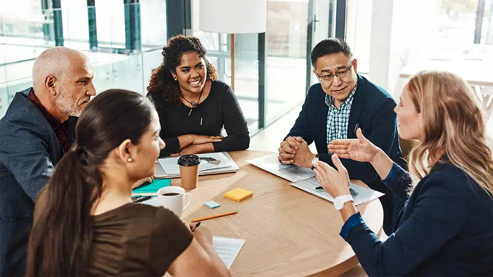
[[(399, 134), (418, 139), (410, 173), (358, 130), (358, 139), (329, 145), (338, 170), (323, 162), (315, 173), (336, 197), (353, 247), (368, 275), (493, 275), (493, 160), (482, 110), (460, 77), (422, 71), (395, 108)], [(367, 227), (349, 193), (339, 157), (370, 162), (395, 195), (406, 200), (386, 241)]]

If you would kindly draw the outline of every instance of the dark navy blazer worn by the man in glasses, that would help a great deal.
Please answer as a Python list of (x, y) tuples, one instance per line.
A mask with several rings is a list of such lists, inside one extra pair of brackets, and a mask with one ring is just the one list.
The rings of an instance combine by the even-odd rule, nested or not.
[[(320, 160), (334, 167), (327, 149), (329, 106), (325, 103), (325, 95), (327, 94), (320, 83), (310, 87), (300, 115), (287, 136), (301, 136), (308, 144), (315, 141)], [(353, 97), (347, 138), (357, 138), (356, 130), (360, 127), (366, 138), (382, 148), (395, 162), (404, 166), (405, 162), (399, 147), (397, 115), (394, 112), (396, 102), (392, 96), (382, 87), (358, 75), (358, 85)], [(386, 193), (380, 200), (385, 213), (384, 230), (390, 233), (394, 219), (404, 206), (404, 202), (393, 199), (391, 190), (381, 181), (369, 162), (344, 158), (341, 161), (348, 169), (350, 178), (362, 180), (371, 188)]]

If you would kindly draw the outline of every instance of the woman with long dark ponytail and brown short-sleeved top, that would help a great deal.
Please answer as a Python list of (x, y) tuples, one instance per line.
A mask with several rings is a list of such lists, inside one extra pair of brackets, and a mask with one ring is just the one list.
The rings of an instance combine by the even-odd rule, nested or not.
[(76, 143), (36, 201), (26, 276), (229, 276), (203, 225), (133, 203), (132, 185), (154, 172), (164, 142), (152, 102), (110, 89), (87, 105)]

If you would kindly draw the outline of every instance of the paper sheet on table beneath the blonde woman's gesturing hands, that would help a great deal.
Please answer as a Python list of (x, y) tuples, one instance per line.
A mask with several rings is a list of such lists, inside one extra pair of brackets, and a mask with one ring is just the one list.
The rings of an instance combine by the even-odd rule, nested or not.
[[(326, 200), (334, 202), (334, 197), (332, 197), (329, 193), (327, 193), (323, 189), (315, 189), (315, 187), (321, 186), (318, 182), (317, 178), (307, 179), (297, 183), (291, 183), (291, 185), (296, 186), (300, 189), (303, 189), (307, 192), (315, 194), (319, 197), (322, 197)], [(384, 195), (384, 193), (369, 189), (354, 183), (349, 184), (349, 191), (351, 196), (353, 196), (354, 204), (359, 205), (371, 200), (377, 199), (378, 197)]]

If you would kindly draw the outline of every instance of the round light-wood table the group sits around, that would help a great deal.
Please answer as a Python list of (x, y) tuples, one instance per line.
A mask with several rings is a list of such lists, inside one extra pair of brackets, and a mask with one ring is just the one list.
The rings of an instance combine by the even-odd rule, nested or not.
[[(240, 170), (199, 176), (197, 188), (189, 191), (192, 202), (182, 219), (239, 211), (202, 222), (213, 235), (246, 239), (231, 266), (233, 276), (337, 276), (355, 266), (358, 259), (339, 236), (343, 222), (331, 202), (246, 161), (267, 154), (271, 152), (230, 152)], [(171, 185), (180, 185), (180, 179), (171, 179)], [(253, 191), (253, 196), (241, 202), (224, 197), (236, 187)], [(210, 209), (203, 204), (208, 200), (221, 206)], [(380, 201), (357, 208), (368, 226), (380, 234)]]

